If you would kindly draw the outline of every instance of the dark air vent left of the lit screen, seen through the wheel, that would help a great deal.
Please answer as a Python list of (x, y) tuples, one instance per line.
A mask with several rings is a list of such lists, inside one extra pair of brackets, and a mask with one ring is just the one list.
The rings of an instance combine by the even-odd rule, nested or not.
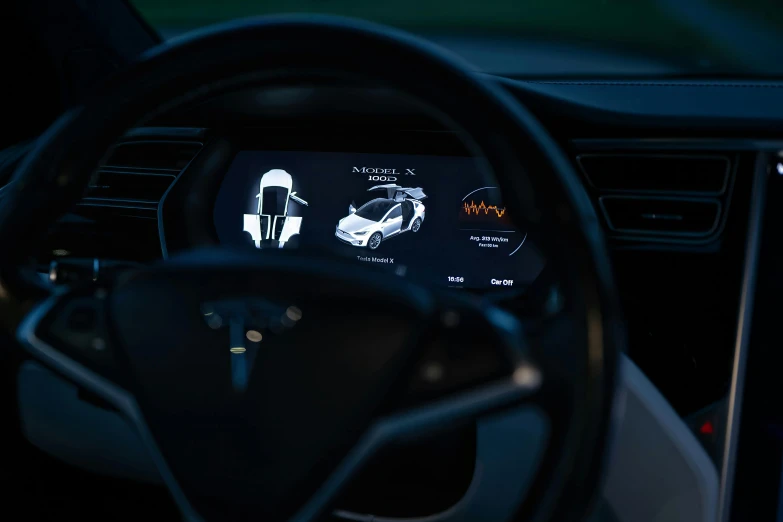
[(199, 128), (131, 129), (93, 174), (85, 197), (52, 227), (38, 262), (160, 259), (160, 199), (201, 150), (205, 133)]

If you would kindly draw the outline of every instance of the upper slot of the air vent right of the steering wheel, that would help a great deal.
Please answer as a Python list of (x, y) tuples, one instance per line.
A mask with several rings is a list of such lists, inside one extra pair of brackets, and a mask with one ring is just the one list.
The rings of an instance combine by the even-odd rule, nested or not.
[(731, 162), (725, 156), (683, 154), (582, 154), (589, 183), (602, 192), (722, 194)]

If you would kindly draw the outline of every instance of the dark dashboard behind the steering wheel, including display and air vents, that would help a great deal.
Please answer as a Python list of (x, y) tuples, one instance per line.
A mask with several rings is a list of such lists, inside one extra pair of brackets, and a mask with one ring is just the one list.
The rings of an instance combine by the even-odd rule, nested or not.
[[(704, 419), (701, 412), (726, 396), (732, 380), (756, 208), (751, 189), (758, 158), (778, 146), (774, 124), (783, 117), (764, 106), (774, 90), (758, 90), (758, 103), (740, 113), (746, 90), (736, 85), (497, 81), (536, 113), (582, 175), (612, 253), (630, 356), (678, 413)], [(724, 100), (718, 105), (728, 114), (716, 112), (704, 92)], [(238, 93), (133, 129), (75, 217), (49, 238), (42, 263), (78, 256), (149, 262), (222, 244), (260, 255), (336, 255), (512, 299), (545, 281), (556, 260), (538, 253), (535, 227), (505, 211), (503, 194), (454, 133), (395, 103), (345, 87), (307, 96)], [(151, 152), (163, 144), (181, 156), (168, 166), (166, 154)], [(611, 167), (604, 179), (633, 173), (635, 184), (602, 184), (588, 158)], [(704, 187), (661, 182), (662, 172), (711, 163), (720, 172), (702, 173)], [(163, 178), (159, 192), (152, 190)], [(614, 211), (617, 201), (626, 204)], [(700, 209), (710, 214), (688, 221)], [(724, 428), (714, 426), (713, 435), (699, 437), (717, 463)], [(474, 441), (466, 436), (460, 444)], [(459, 483), (453, 489), (467, 487), (469, 471), (451, 475)]]

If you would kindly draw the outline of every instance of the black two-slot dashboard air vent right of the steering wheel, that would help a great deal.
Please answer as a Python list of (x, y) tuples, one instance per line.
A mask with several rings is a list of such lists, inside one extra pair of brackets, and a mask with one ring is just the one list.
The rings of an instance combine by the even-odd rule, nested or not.
[(676, 140), (576, 140), (574, 145), (610, 238), (703, 244), (721, 234), (739, 154), (686, 149)]

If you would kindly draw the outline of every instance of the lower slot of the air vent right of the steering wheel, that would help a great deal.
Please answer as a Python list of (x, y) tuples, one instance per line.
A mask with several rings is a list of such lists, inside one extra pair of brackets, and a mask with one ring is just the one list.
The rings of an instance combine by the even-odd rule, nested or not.
[(710, 199), (603, 196), (599, 203), (614, 232), (666, 236), (708, 236), (718, 227), (721, 209)]

